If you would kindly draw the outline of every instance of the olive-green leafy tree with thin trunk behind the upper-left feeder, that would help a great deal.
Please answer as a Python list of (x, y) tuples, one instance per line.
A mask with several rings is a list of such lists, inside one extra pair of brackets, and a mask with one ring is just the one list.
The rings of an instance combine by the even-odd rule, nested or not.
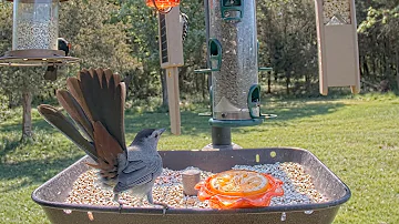
[[(31, 102), (33, 95), (51, 99), (54, 90), (64, 86), (65, 79), (75, 75), (81, 68), (103, 67), (115, 72), (134, 71), (140, 63), (131, 57), (126, 24), (111, 22), (110, 10), (117, 10), (116, 4), (106, 0), (85, 3), (83, 1), (69, 1), (61, 4), (60, 37), (69, 40), (73, 47), (71, 54), (81, 59), (75, 67), (64, 68), (64, 75), (55, 82), (43, 80), (44, 68), (1, 68), (1, 93), (12, 102), (21, 99), (22, 139), (31, 138)], [(2, 22), (0, 50), (11, 50), (12, 37), (12, 4), (0, 3)], [(84, 12), (84, 13), (82, 13)], [(99, 17), (100, 16), (100, 17)], [(11, 103), (10, 103), (11, 104)]]

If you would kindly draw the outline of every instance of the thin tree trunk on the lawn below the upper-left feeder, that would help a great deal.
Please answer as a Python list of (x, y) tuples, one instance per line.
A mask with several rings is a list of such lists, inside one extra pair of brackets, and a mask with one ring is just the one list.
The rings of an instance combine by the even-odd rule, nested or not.
[(25, 91), (22, 93), (22, 140), (32, 139), (32, 93)]

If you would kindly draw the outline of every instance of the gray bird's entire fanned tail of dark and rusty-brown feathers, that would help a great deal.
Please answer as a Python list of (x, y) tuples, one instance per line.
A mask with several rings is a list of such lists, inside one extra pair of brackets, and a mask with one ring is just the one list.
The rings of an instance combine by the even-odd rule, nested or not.
[(90, 165), (100, 169), (102, 177), (115, 177), (119, 154), (126, 156), (124, 83), (111, 70), (84, 69), (78, 78), (69, 78), (66, 86), (57, 99), (80, 131), (51, 105), (40, 105), (39, 112), (96, 162)]

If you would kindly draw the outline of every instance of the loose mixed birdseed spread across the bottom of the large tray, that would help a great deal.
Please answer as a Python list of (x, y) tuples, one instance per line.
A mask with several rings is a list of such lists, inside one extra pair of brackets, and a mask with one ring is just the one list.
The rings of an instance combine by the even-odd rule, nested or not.
[[(187, 167), (194, 169), (194, 167)], [(270, 206), (309, 204), (326, 202), (328, 198), (321, 195), (315, 189), (311, 176), (305, 173), (304, 167), (298, 163), (275, 163), (264, 165), (236, 165), (233, 170), (248, 170), (260, 173), (269, 173), (284, 182), (284, 196), (274, 197)], [(183, 170), (184, 171), (184, 170)], [(207, 202), (201, 202), (196, 196), (186, 196), (183, 194), (182, 172), (164, 169), (162, 175), (155, 181), (153, 187), (153, 197), (155, 202), (166, 203), (171, 207), (178, 208), (208, 208)], [(201, 180), (205, 180), (213, 173), (201, 171)], [(120, 200), (124, 206), (149, 207), (146, 200), (141, 204), (140, 198), (120, 194)], [(104, 187), (98, 180), (96, 171), (91, 169), (81, 174), (73, 184), (66, 203), (90, 204), (101, 206), (119, 206), (113, 201), (112, 189)]]

